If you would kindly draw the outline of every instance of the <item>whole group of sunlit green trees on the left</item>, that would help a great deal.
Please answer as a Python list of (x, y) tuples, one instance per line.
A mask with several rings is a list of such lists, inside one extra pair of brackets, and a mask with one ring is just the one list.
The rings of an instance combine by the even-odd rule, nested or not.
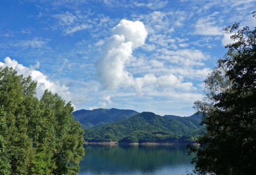
[(0, 68), (0, 174), (77, 174), (84, 131), (71, 103)]

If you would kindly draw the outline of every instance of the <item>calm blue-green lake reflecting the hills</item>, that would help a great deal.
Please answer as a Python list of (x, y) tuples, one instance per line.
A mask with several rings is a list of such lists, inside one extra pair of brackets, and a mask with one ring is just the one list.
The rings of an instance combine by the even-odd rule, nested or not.
[(86, 145), (78, 175), (179, 175), (192, 172), (186, 146)]

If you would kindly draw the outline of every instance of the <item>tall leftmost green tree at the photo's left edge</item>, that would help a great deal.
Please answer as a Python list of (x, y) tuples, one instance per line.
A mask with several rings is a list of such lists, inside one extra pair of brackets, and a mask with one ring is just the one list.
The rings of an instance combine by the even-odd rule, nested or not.
[(28, 118), (25, 115), (26, 78), (9, 68), (0, 69), (0, 106), (5, 112), (5, 156), (10, 161), (11, 174), (27, 174), (32, 153), (32, 140), (28, 136)]

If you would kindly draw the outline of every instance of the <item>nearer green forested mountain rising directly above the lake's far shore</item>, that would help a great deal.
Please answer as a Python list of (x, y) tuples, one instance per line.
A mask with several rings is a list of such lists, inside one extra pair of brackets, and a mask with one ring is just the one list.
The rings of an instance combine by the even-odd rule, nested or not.
[(177, 119), (142, 112), (129, 119), (85, 129), (86, 141), (119, 141), (121, 143), (193, 141), (201, 134), (201, 118)]

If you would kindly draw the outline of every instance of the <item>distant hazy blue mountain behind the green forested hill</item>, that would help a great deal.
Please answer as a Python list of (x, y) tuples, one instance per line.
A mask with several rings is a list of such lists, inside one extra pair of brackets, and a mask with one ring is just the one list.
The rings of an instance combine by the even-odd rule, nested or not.
[(98, 124), (106, 124), (115, 121), (125, 120), (136, 114), (138, 114), (137, 111), (119, 110), (114, 108), (78, 110), (73, 112), (75, 120), (82, 123), (83, 128), (92, 128)]

